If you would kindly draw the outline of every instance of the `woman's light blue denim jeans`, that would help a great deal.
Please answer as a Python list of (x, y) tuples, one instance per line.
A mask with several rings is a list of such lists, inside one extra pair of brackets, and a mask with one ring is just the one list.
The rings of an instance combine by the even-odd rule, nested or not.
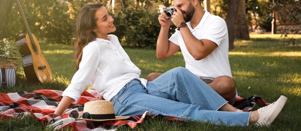
[(147, 89), (139, 80), (127, 83), (111, 99), (116, 115), (134, 116), (145, 111), (216, 124), (248, 125), (250, 112), (217, 111), (227, 101), (186, 68), (172, 69)]

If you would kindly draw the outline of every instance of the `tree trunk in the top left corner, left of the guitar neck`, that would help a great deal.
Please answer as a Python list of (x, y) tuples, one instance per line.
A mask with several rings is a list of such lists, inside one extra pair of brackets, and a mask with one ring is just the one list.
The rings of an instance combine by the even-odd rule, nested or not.
[(0, 1), (0, 40), (7, 37), (7, 25), (9, 23), (9, 14), (12, 10), (14, 1), (1, 0)]

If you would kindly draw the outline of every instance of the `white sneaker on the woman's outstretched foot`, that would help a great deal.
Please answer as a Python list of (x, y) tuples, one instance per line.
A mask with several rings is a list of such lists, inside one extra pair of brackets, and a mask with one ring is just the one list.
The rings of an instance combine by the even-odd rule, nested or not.
[(266, 125), (269, 126), (273, 123), (276, 117), (281, 112), (282, 108), (286, 103), (287, 98), (285, 96), (280, 96), (277, 101), (267, 105), (265, 107), (259, 108), (257, 111), (259, 113), (259, 119), (255, 123), (256, 125)]

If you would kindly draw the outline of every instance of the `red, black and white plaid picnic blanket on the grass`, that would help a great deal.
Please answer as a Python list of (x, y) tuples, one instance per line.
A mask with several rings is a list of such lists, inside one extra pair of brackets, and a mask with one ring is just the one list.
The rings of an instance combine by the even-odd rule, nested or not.
[[(150, 114), (146, 111), (144, 114), (131, 116), (126, 120), (109, 120), (103, 122), (91, 122), (87, 120), (77, 120), (69, 118), (71, 111), (83, 111), (85, 102), (98, 100), (100, 93), (96, 90), (85, 90), (77, 103), (72, 103), (62, 115), (54, 114), (59, 102), (62, 99), (63, 91), (58, 90), (35, 90), (31, 92), (1, 93), (0, 94), (0, 120), (8, 118), (22, 118), (24, 115), (32, 115), (42, 123), (48, 124), (55, 129), (72, 128), (73, 130), (87, 129), (117, 129), (120, 125), (128, 125), (135, 128), (147, 118), (161, 116), (159, 114)], [(256, 103), (267, 105), (259, 96), (248, 98), (238, 97), (236, 107), (244, 111), (250, 111)], [(163, 116), (168, 120), (181, 120), (175, 117)]]

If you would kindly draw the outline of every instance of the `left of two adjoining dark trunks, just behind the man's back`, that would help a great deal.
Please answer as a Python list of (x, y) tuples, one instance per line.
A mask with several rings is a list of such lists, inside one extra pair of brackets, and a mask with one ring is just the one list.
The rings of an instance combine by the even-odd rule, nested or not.
[(229, 0), (229, 9), (227, 13), (226, 23), (228, 28), (228, 34), (229, 34), (229, 49), (234, 48), (234, 31), (235, 31), (235, 19), (236, 19), (236, 13), (237, 13), (237, 6), (239, 1), (237, 0)]

